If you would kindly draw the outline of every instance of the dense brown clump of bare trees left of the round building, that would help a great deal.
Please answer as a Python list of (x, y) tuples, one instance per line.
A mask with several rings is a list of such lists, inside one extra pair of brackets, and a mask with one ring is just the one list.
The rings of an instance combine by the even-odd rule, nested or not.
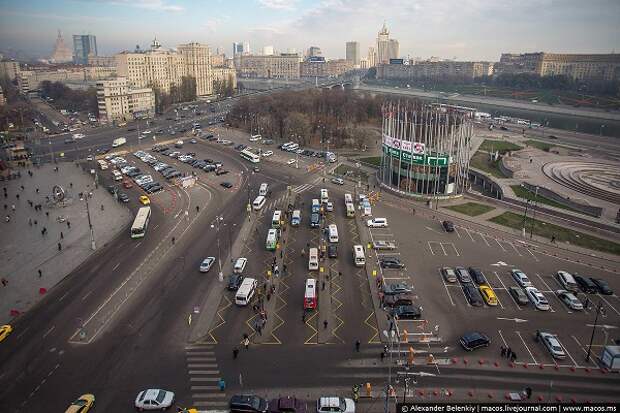
[(380, 96), (341, 89), (285, 91), (241, 99), (228, 121), (280, 142), (361, 148), (378, 136), (382, 103)]

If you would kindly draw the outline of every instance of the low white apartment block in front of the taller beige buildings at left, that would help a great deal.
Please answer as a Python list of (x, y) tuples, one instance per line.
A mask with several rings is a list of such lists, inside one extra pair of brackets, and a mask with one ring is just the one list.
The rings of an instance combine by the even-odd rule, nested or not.
[(153, 89), (132, 89), (126, 78), (97, 82), (99, 117), (109, 122), (151, 118), (155, 115)]

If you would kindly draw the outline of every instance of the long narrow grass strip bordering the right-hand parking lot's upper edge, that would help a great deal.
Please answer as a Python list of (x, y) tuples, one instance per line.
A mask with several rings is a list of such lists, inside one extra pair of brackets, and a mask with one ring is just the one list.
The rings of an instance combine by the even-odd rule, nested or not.
[[(514, 212), (504, 212), (502, 215), (489, 219), (489, 221), (510, 228), (523, 228), (523, 215), (515, 214)], [(555, 236), (556, 242), (558, 243), (567, 242), (591, 250), (620, 255), (620, 244), (617, 242), (597, 238), (592, 235), (584, 234), (583, 232), (573, 231), (559, 225), (550, 224), (537, 219), (532, 220), (530, 218), (527, 219), (526, 223), (527, 232), (530, 232), (532, 224), (534, 225), (533, 232), (535, 235), (547, 239), (551, 239), (552, 236)]]

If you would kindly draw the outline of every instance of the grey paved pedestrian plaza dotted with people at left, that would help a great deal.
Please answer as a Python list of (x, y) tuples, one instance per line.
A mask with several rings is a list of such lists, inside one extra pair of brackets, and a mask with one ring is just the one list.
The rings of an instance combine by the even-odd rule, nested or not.
[[(21, 169), (21, 178), (3, 182), (6, 196), (4, 189), (0, 196), (6, 207), (0, 232), (0, 277), (6, 285), (0, 287), (0, 323), (27, 311), (94, 253), (86, 199), (80, 200), (80, 192), (85, 196), (92, 192), (88, 205), (97, 249), (131, 221), (131, 212), (103, 187), (95, 189), (92, 177), (82, 168), (63, 163), (57, 164), (56, 172), (55, 167), (33, 168), (32, 176), (28, 169)], [(65, 191), (64, 204), (52, 200), (55, 185)], [(35, 210), (36, 205), (41, 207)]]

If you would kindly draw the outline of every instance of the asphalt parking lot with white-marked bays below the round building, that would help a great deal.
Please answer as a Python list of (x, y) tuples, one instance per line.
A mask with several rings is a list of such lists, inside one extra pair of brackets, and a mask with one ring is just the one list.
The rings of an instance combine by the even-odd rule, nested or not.
[[(616, 291), (620, 288), (613, 274), (605, 271), (592, 272), (591, 268), (575, 262), (567, 262), (538, 254), (519, 241), (504, 238), (502, 234), (481, 233), (472, 228), (457, 225), (452, 233), (445, 232), (441, 222), (412, 215), (411, 210), (382, 206), (373, 208), (374, 217), (387, 217), (388, 228), (368, 228), (370, 239), (394, 241), (397, 250), (374, 253), (375, 258), (397, 256), (406, 270), (381, 269), (386, 282), (407, 282), (414, 288), (418, 305), (422, 307), (422, 325), (412, 328), (411, 321), (398, 322), (400, 330), (431, 331), (449, 347), (447, 355), (472, 356), (459, 346), (460, 336), (479, 331), (491, 341), (488, 348), (475, 351), (475, 358), (494, 360), (501, 358), (500, 346), (509, 347), (516, 354), (515, 365), (536, 365), (540, 368), (559, 367), (569, 369), (596, 368), (596, 357), (605, 344), (615, 344), (620, 320), (620, 298), (617, 294), (576, 293), (586, 307), (583, 311), (570, 309), (557, 295), (564, 289), (556, 272), (568, 271), (588, 277), (603, 278)], [(472, 306), (467, 299), (463, 283), (447, 282), (441, 267), (476, 267), (481, 270), (486, 285), (492, 288), (497, 305)], [(533, 287), (549, 302), (548, 311), (534, 308), (532, 303), (519, 304), (509, 293), (511, 287), (519, 287), (512, 269), (520, 269)], [(596, 317), (601, 305), (593, 346), (592, 357), (586, 354)], [(536, 340), (536, 332), (557, 335), (565, 357), (556, 359), (542, 342)]]

